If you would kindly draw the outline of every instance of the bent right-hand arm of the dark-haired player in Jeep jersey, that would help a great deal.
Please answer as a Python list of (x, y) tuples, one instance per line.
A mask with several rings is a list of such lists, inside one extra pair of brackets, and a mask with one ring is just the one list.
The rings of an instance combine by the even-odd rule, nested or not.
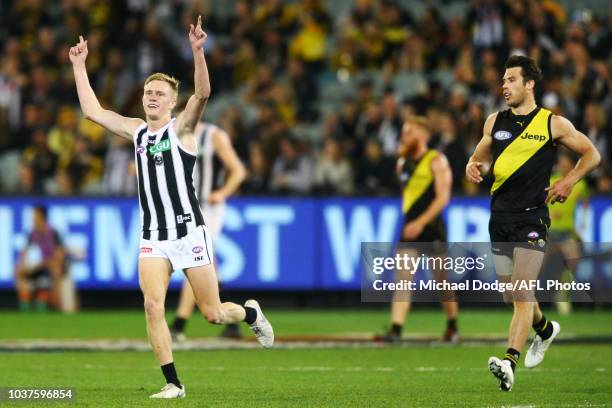
[(565, 146), (580, 156), (572, 171), (546, 189), (548, 191), (546, 202), (554, 204), (567, 199), (574, 185), (599, 165), (601, 156), (589, 138), (576, 130), (572, 122), (563, 116), (553, 115), (550, 127), (555, 143)]

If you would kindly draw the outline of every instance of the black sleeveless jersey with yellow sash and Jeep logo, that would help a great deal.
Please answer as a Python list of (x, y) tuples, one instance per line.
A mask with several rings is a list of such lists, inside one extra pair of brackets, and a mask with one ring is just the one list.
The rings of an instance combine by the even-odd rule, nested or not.
[(525, 212), (545, 206), (555, 162), (552, 114), (536, 108), (527, 115), (499, 112), (493, 125), (492, 212)]

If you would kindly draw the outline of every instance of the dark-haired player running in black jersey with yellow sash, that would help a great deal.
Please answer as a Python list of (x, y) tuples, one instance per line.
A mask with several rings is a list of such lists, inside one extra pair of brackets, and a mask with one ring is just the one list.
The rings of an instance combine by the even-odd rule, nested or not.
[[(489, 234), (496, 272), (506, 282), (537, 278), (550, 225), (546, 204), (564, 202), (574, 185), (600, 160), (597, 149), (569, 120), (536, 105), (534, 89), (541, 75), (528, 57), (508, 59), (502, 90), (510, 109), (487, 118), (483, 137), (466, 166), (468, 180), (480, 183), (492, 161)], [(580, 160), (549, 186), (557, 144), (579, 155)], [(489, 370), (503, 391), (514, 384), (514, 370), (530, 327), (536, 335), (525, 357), (527, 368), (542, 362), (560, 331), (559, 324), (547, 320), (534, 299), (533, 292), (513, 293), (508, 349), (503, 359), (489, 358)]]

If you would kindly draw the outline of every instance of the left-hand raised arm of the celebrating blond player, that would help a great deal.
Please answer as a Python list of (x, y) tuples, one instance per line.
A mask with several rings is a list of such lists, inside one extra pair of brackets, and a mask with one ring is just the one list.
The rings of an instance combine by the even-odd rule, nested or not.
[(134, 132), (143, 123), (142, 119), (126, 118), (113, 111), (104, 109), (89, 83), (85, 61), (87, 60), (87, 40), (79, 36), (79, 42), (70, 48), (69, 57), (74, 71), (77, 94), (85, 117), (108, 131), (132, 140)]

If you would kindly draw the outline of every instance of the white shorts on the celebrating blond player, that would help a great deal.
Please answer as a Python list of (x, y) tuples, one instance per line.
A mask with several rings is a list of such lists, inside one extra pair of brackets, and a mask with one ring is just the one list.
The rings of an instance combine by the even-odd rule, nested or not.
[(210, 265), (214, 259), (212, 237), (208, 228), (200, 225), (172, 241), (140, 238), (140, 258), (165, 258), (172, 264), (172, 270)]

